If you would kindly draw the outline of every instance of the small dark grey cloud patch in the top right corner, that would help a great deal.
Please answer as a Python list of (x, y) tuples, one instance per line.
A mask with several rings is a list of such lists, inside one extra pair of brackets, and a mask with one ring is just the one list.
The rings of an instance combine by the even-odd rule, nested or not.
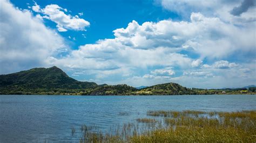
[(246, 12), (249, 8), (255, 5), (255, 0), (244, 0), (241, 5), (233, 8), (230, 13), (234, 16), (240, 16), (241, 13)]

